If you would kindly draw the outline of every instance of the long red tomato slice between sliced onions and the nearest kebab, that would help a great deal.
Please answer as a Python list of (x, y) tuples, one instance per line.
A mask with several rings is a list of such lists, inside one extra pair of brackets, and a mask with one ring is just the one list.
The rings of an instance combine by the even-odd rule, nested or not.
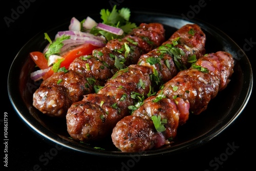
[(97, 49), (99, 47), (94, 46), (92, 44), (83, 44), (80, 45), (74, 49), (71, 49), (70, 51), (66, 52), (62, 55), (64, 60), (60, 63), (60, 68), (66, 67), (66, 69), (69, 68), (70, 63), (77, 57), (82, 55), (89, 55), (92, 53), (94, 49)]

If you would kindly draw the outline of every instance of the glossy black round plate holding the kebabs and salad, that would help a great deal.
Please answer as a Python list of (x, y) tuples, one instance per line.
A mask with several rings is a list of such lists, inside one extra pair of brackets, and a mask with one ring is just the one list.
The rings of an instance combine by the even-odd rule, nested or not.
[[(90, 14), (96, 21), (101, 21), (100, 16)], [(78, 19), (86, 18), (82, 16)], [(198, 24), (206, 34), (206, 53), (226, 51), (236, 59), (234, 74), (227, 88), (219, 92), (212, 99), (206, 111), (200, 115), (190, 115), (186, 124), (178, 129), (177, 137), (172, 146), (162, 147), (139, 153), (140, 156), (156, 156), (175, 154), (190, 148), (203, 145), (220, 134), (243, 111), (252, 91), (252, 70), (250, 62), (239, 46), (219, 29), (200, 20), (184, 20), (177, 15), (166, 15), (152, 12), (132, 12), (131, 21), (138, 25), (144, 23), (162, 23), (169, 38), (177, 29), (188, 23)], [(43, 30), (27, 42), (18, 52), (12, 62), (8, 75), (8, 93), (13, 108), (19, 117), (39, 136), (50, 140), (51, 143), (61, 144), (71, 150), (82, 153), (108, 157), (130, 157), (130, 153), (123, 153), (113, 145), (111, 137), (94, 143), (80, 143), (70, 139), (66, 120), (49, 118), (40, 113), (32, 105), (32, 95), (40, 85), (40, 81), (33, 82), (30, 73), (34, 71), (35, 64), (29, 57), (29, 52), (42, 51), (47, 45), (44, 32), (54, 37), (57, 31), (67, 30), (69, 21), (51, 29)], [(101, 147), (104, 149), (96, 149)]]

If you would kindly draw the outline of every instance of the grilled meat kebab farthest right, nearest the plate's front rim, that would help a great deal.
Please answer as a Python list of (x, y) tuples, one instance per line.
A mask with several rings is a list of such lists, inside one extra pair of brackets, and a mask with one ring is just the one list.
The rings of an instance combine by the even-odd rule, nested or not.
[[(226, 88), (233, 66), (231, 54), (223, 51), (198, 59), (191, 68), (166, 82), (155, 96), (144, 100), (132, 115), (121, 119), (113, 129), (113, 143), (122, 152), (147, 151), (169, 144), (189, 113), (198, 115), (206, 110), (209, 101)], [(154, 120), (159, 121), (158, 126)]]

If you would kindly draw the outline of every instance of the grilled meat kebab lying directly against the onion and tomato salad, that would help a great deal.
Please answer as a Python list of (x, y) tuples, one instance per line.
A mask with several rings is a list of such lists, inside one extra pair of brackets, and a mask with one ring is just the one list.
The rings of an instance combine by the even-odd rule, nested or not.
[(162, 24), (142, 23), (124, 38), (95, 49), (92, 55), (76, 58), (69, 72), (54, 73), (42, 81), (33, 94), (33, 105), (48, 116), (65, 117), (72, 103), (94, 93), (94, 86), (103, 86), (116, 71), (137, 63), (142, 54), (160, 46), (164, 36)]

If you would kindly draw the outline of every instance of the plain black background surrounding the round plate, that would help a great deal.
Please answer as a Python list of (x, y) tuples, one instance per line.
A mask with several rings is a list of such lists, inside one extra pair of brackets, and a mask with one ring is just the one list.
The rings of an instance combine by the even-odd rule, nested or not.
[[(13, 22), (8, 24), (5, 17), (12, 17), (12, 12), (17, 11), (22, 2), (27, 2), (26, 9), (16, 16)], [(29, 4), (28, 4), (29, 2)], [(140, 3), (139, 3), (140, 2)], [(167, 2), (167, 1), (166, 1)], [(7, 93), (7, 77), (9, 67), (17, 52), (26, 42), (35, 36), (39, 31), (50, 28), (52, 25), (73, 16), (99, 13), (100, 9), (112, 9), (112, 3), (117, 8), (130, 8), (131, 10), (154, 11), (178, 15), (193, 15), (226, 33), (248, 56), (253, 72), (255, 73), (255, 9), (251, 1), (223, 4), (224, 1), (5, 1), (2, 2), (2, 39), (1, 60), (2, 71), (4, 72), (4, 104), (2, 105), (1, 127), (3, 125), (3, 114), (8, 113), (8, 168), (7, 170), (36, 170), (33, 168), (39, 165), (38, 170), (140, 170), (157, 168), (167, 170), (250, 170), (254, 167), (255, 145), (254, 130), (255, 104), (254, 90), (243, 113), (219, 136), (210, 142), (191, 149), (187, 152), (159, 156), (154, 158), (140, 158), (131, 164), (129, 158), (105, 158), (86, 155), (79, 152), (62, 148), (57, 155), (49, 159), (44, 165), (39, 161), (41, 155), (48, 153), (55, 144), (49, 143), (46, 139), (35, 135), (29, 127), (18, 117), (9, 101)], [(204, 3), (203, 3), (204, 2)], [(202, 6), (203, 3), (204, 6)], [(200, 7), (201, 5), (201, 7)], [(253, 42), (248, 45), (248, 41)], [(254, 101), (253, 101), (254, 100)], [(4, 134), (4, 131), (2, 131)], [(3, 138), (4, 139), (4, 138)], [(228, 158), (218, 164), (218, 168), (211, 167), (209, 162), (226, 153), (227, 144), (239, 146)], [(4, 151), (4, 147), (1, 150)], [(4, 157), (4, 155), (2, 155)], [(4, 161), (4, 159), (2, 158)], [(2, 165), (4, 163), (2, 162)]]

